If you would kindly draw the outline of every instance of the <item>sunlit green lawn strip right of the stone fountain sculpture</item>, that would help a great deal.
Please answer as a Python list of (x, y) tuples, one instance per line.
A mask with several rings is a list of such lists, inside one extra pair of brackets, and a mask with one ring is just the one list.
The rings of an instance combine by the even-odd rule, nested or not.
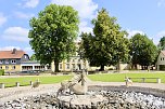
[[(124, 82), (125, 77), (130, 78), (161, 78), (162, 83), (165, 83), (165, 73), (152, 72), (152, 73), (101, 73), (101, 74), (89, 74), (88, 78), (92, 81), (102, 82)], [(134, 82), (141, 82), (141, 80), (132, 80)], [(156, 80), (148, 80), (147, 82), (156, 82)]]

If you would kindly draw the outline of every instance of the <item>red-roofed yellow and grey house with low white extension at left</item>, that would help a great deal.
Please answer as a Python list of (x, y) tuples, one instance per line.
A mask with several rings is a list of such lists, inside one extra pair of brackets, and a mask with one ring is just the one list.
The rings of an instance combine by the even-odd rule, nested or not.
[(40, 65), (39, 62), (29, 60), (28, 54), (16, 49), (0, 51), (0, 69), (4, 69), (5, 72), (48, 70), (47, 66)]

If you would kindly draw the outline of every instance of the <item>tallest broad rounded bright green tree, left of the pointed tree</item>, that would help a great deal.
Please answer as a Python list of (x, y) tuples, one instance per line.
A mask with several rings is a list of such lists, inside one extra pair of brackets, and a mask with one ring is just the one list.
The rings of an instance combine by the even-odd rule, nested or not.
[(30, 19), (28, 38), (36, 58), (41, 64), (54, 62), (55, 72), (59, 63), (68, 58), (75, 51), (78, 35), (78, 13), (72, 6), (50, 4)]

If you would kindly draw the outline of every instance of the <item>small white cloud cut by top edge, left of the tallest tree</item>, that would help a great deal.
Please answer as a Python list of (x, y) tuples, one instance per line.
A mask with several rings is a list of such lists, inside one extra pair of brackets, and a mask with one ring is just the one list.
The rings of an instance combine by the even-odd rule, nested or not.
[(36, 8), (39, 4), (39, 0), (26, 0), (24, 4), (18, 4), (23, 5), (24, 8)]

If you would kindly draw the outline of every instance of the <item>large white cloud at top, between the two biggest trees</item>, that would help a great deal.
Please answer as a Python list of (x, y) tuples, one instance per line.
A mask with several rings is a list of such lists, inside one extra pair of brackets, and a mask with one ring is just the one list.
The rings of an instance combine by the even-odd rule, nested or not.
[(97, 14), (98, 4), (92, 0), (51, 0), (60, 5), (71, 5), (78, 11), (80, 18), (93, 18)]

